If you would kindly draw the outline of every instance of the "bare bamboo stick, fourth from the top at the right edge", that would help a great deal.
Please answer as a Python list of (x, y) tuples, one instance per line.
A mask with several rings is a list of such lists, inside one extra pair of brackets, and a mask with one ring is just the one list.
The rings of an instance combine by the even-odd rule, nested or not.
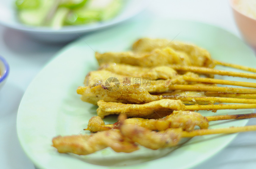
[(232, 88), (232, 87), (217, 87), (217, 86), (196, 86), (196, 85), (170, 85), (170, 90), (185, 90), (185, 91), (216, 91), (227, 93), (251, 93), (256, 94), (256, 89), (251, 88)]

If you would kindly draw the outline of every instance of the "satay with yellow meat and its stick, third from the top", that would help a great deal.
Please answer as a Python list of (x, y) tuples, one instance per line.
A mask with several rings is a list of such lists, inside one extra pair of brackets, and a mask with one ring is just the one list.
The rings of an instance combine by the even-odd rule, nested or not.
[[(158, 67), (143, 69), (143, 67), (132, 66), (132, 65), (124, 65), (124, 64), (112, 64), (112, 65), (114, 65), (113, 68), (107, 67), (106, 65), (102, 65), (100, 70), (94, 71), (93, 73), (98, 72), (96, 74), (97, 76), (99, 76), (100, 74), (99, 72), (105, 73), (104, 75), (102, 75), (103, 77), (111, 75), (113, 77), (119, 78), (119, 80), (125, 79), (125, 77), (131, 77), (131, 78), (146, 77), (146, 78), (150, 78), (150, 80), (153, 83), (156, 83), (157, 79), (164, 79), (166, 80), (166, 82), (172, 80), (171, 81), (172, 83), (175, 83), (175, 79), (179, 79), (178, 82), (181, 83), (181, 80), (183, 79), (184, 81), (188, 81), (188, 82), (213, 83), (213, 84), (256, 88), (256, 83), (221, 80), (221, 79), (214, 79), (214, 78), (199, 78), (199, 77), (196, 77), (196, 75), (193, 73), (179, 75), (175, 70), (173, 70), (171, 67), (168, 67), (168, 66), (158, 66)], [(90, 75), (92, 75), (92, 73)]]

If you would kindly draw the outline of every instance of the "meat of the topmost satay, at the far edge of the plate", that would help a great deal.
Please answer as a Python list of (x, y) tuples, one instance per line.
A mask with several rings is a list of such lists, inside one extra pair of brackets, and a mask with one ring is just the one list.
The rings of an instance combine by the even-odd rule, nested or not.
[(132, 50), (134, 52), (151, 52), (155, 49), (162, 50), (165, 48), (171, 48), (174, 51), (183, 52), (189, 57), (191, 65), (210, 68), (215, 66), (210, 57), (210, 53), (194, 44), (170, 41), (167, 39), (141, 38), (132, 45)]

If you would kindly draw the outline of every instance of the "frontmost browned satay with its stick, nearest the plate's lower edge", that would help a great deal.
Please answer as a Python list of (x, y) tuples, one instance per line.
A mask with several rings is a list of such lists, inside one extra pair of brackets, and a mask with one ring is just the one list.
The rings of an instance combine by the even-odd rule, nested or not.
[(90, 135), (57, 136), (52, 139), (52, 146), (60, 153), (71, 152), (79, 155), (91, 154), (106, 147), (111, 147), (115, 152), (129, 153), (138, 150), (138, 144), (149, 149), (159, 149), (176, 146), (182, 137), (256, 130), (256, 126), (252, 125), (192, 131), (182, 131), (182, 128), (168, 128), (156, 132), (136, 124), (127, 124), (125, 115), (120, 116), (118, 118), (119, 129), (99, 131)]

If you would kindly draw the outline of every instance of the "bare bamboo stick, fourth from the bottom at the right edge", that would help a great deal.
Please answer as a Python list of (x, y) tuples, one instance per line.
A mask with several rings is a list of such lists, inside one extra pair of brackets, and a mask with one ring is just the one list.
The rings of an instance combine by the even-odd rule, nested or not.
[(212, 103), (243, 103), (243, 104), (256, 104), (256, 99), (239, 99), (239, 98), (226, 98), (226, 97), (193, 97), (193, 96), (162, 96), (160, 99), (175, 99), (183, 102), (212, 102)]

